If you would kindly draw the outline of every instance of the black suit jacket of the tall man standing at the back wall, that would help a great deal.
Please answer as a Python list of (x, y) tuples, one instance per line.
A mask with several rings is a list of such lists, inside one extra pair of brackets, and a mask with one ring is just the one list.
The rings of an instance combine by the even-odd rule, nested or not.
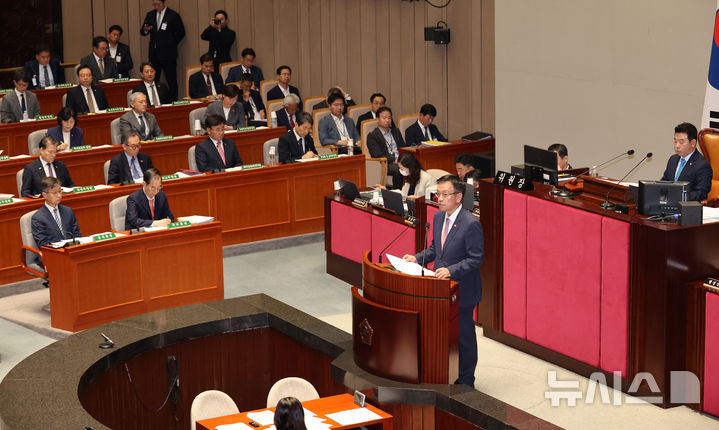
[[(162, 30), (162, 23), (167, 24), (167, 28)], [(145, 15), (144, 24), (152, 26), (152, 30), (145, 32), (143, 26), (140, 26), (140, 35), (150, 35), (150, 51), (148, 58), (150, 61), (158, 60), (174, 60), (177, 58), (177, 44), (185, 37), (185, 25), (182, 23), (180, 14), (170, 9), (165, 9), (162, 17), (162, 23), (157, 23), (157, 12), (153, 9)]]

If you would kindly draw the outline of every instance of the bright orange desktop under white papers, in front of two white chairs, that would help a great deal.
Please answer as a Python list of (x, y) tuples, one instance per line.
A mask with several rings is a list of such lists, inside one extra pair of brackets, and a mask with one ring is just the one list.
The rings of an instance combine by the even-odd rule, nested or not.
[[(335, 412), (341, 412), (348, 409), (357, 409), (359, 408), (358, 405), (356, 405), (353, 401), (353, 397), (349, 394), (339, 394), (337, 396), (330, 396), (330, 397), (323, 397), (321, 399), (316, 400), (308, 400), (306, 402), (302, 402), (302, 406), (305, 407), (305, 409), (315, 413), (320, 418), (325, 418), (325, 422), (332, 423), (333, 429), (342, 430), (342, 429), (353, 429), (358, 428), (361, 426), (367, 426), (372, 424), (379, 424), (383, 430), (391, 430), (392, 429), (392, 415), (388, 414), (387, 412), (377, 409), (372, 405), (366, 405), (365, 407), (369, 409), (370, 411), (376, 413), (377, 415), (381, 416), (382, 419), (373, 420), (373, 421), (365, 421), (360, 422), (348, 426), (340, 425), (331, 419), (327, 418), (326, 415), (333, 414)], [(258, 409), (256, 411), (250, 411), (250, 412), (262, 412), (265, 410), (271, 410), (274, 411), (275, 408), (267, 408), (267, 409)], [(197, 421), (197, 430), (215, 430), (217, 426), (223, 425), (223, 424), (234, 424), (234, 423), (245, 423), (248, 424), (251, 420), (247, 418), (247, 414), (249, 412), (242, 412), (239, 414), (234, 415), (227, 415), (224, 417), (217, 417), (217, 418), (208, 418), (206, 420), (199, 420)], [(249, 425), (249, 424), (248, 424)], [(260, 429), (266, 429), (270, 426), (261, 426), (258, 427)]]

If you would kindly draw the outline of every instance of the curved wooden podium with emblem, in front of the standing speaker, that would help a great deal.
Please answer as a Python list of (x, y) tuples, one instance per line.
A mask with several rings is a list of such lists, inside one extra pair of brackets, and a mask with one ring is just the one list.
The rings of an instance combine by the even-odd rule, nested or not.
[(352, 288), (354, 359), (375, 375), (409, 383), (449, 384), (459, 366), (459, 287), (409, 276), (363, 257), (363, 292)]

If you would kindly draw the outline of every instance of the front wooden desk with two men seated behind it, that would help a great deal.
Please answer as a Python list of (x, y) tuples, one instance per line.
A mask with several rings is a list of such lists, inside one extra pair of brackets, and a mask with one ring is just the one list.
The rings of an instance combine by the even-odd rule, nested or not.
[(42, 252), (55, 328), (84, 330), (225, 298), (219, 222)]

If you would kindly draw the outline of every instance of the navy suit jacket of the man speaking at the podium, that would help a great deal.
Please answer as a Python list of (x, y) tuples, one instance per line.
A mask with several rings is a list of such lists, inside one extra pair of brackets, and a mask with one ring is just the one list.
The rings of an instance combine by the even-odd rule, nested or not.
[(484, 232), (482, 224), (466, 209), (459, 209), (457, 219), (442, 243), (444, 211), (434, 214), (432, 220), (432, 244), (415, 255), (417, 262), (425, 264), (434, 261), (434, 270), (449, 269), (450, 277), (459, 283), (459, 306), (473, 307), (482, 300), (482, 278), (479, 266), (484, 261)]

